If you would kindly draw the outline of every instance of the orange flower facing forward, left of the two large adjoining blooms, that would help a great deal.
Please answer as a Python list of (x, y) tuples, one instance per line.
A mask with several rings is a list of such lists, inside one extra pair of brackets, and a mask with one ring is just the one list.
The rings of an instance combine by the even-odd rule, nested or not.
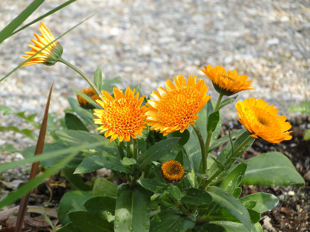
[(110, 138), (110, 142), (116, 138), (120, 138), (120, 141), (129, 141), (130, 137), (136, 139), (137, 134), (141, 135), (146, 126), (145, 112), (147, 108), (141, 106), (144, 95), (139, 98), (139, 92), (135, 95), (135, 89), (126, 88), (125, 95), (123, 92), (115, 88), (113, 89), (114, 98), (109, 92), (102, 90), (102, 95), (99, 97), (102, 101), (96, 100), (96, 102), (103, 108), (95, 109), (94, 115), (99, 117), (94, 120), (95, 124), (101, 124), (96, 130), (105, 132), (105, 136)]

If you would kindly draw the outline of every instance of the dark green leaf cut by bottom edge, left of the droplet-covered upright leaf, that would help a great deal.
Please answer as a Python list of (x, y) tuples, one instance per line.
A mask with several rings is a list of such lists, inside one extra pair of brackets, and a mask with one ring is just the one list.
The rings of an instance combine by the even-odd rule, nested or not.
[[(68, 214), (70, 221), (81, 231), (113, 232), (113, 225), (96, 215), (85, 212), (75, 211)], [(81, 218), (83, 218), (81, 220)], [(85, 223), (87, 222), (87, 223)]]

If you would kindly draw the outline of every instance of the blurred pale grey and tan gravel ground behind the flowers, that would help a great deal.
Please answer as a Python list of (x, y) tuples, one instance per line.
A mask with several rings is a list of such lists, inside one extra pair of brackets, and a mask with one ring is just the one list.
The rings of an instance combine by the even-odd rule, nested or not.
[[(1, 0), (0, 28), (4, 28), (31, 0)], [(26, 21), (46, 13), (64, 0), (46, 0)], [(97, 13), (97, 14), (95, 14)], [(238, 99), (263, 98), (286, 113), (288, 106), (310, 98), (310, 0), (78, 0), (44, 19), (59, 36), (95, 14), (64, 36), (63, 58), (89, 77), (101, 65), (104, 78), (121, 76), (118, 87), (141, 84), (148, 95), (167, 78), (197, 74), (206, 64), (221, 65), (248, 74), (256, 90), (243, 91)], [(21, 55), (39, 22), (0, 44), (0, 78), (23, 61)], [(62, 114), (69, 106), (70, 89), (86, 82), (73, 70), (55, 66), (23, 67), (0, 83), (0, 105), (42, 116), (51, 82), (55, 78), (50, 112)], [(209, 93), (217, 98), (211, 82)], [(224, 116), (235, 116), (234, 106)], [(41, 117), (38, 117), (38, 120)], [(12, 116), (1, 116), (0, 126), (29, 125)], [(33, 141), (13, 132), (0, 132), (0, 146), (16, 149)], [(2, 152), (0, 162), (19, 159)]]

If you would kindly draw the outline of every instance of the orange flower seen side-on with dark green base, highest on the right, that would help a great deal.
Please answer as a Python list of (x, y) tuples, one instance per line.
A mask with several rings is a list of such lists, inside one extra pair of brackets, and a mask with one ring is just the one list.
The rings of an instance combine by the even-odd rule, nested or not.
[(201, 71), (210, 78), (217, 92), (225, 96), (233, 95), (242, 90), (254, 89), (249, 87), (252, 81), (247, 81), (248, 75), (238, 75), (235, 70), (226, 72), (220, 65), (213, 68), (208, 64), (208, 67), (204, 66)]

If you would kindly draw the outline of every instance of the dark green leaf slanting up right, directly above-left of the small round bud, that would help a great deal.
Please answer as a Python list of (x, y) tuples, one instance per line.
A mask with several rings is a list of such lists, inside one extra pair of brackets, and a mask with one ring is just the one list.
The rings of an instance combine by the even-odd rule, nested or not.
[(138, 163), (145, 167), (150, 165), (152, 161), (159, 160), (162, 156), (170, 152), (170, 149), (176, 145), (180, 138), (165, 139), (146, 150), (139, 158)]

